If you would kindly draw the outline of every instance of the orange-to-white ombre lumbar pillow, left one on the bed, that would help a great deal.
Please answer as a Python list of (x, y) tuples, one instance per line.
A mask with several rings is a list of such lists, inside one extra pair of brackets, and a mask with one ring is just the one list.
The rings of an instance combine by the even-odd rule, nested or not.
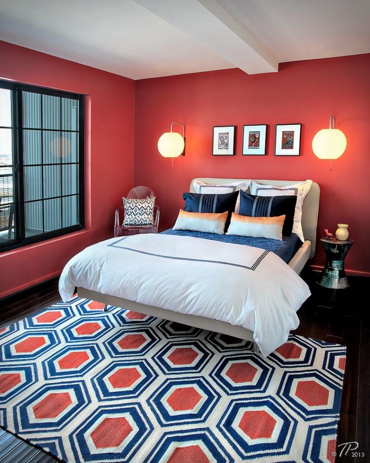
[(207, 232), (224, 234), (228, 212), (211, 214), (202, 212), (186, 212), (180, 209), (173, 230), (189, 230), (192, 232)]

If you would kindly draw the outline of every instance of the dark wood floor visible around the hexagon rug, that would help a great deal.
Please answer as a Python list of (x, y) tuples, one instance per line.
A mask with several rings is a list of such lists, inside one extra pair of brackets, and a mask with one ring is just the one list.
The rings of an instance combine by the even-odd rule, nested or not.
[[(313, 296), (298, 311), (300, 324), (296, 334), (347, 346), (342, 406), (337, 443), (358, 442), (358, 452), (365, 457), (354, 458), (352, 452), (336, 462), (370, 462), (370, 310), (365, 295), (369, 279), (353, 277), (349, 290), (319, 289), (316, 276), (306, 272)], [(0, 327), (14, 323), (31, 313), (60, 300), (57, 279), (38, 285), (0, 301)], [(319, 305), (330, 305), (325, 309)], [(341, 448), (338, 448), (338, 453)], [(0, 463), (52, 463), (53, 458), (26, 442), (0, 429)]]

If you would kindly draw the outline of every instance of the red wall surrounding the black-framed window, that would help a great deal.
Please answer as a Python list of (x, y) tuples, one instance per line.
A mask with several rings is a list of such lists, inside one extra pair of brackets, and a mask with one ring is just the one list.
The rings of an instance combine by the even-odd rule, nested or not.
[(74, 254), (111, 237), (114, 209), (133, 185), (135, 82), (1, 41), (0, 56), (0, 78), (87, 95), (86, 229), (1, 253), (1, 298), (59, 274)]

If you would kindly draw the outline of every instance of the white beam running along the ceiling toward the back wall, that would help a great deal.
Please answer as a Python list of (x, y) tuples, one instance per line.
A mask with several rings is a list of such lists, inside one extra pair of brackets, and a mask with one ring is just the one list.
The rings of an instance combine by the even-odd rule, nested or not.
[(135, 0), (247, 74), (278, 71), (278, 61), (216, 0)]

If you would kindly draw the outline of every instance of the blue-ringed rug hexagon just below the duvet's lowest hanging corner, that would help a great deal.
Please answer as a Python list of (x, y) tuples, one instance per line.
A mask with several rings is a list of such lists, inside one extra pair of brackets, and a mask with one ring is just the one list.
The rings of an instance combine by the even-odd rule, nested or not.
[(230, 395), (265, 392), (274, 370), (259, 355), (227, 355), (211, 372), (215, 382)]

